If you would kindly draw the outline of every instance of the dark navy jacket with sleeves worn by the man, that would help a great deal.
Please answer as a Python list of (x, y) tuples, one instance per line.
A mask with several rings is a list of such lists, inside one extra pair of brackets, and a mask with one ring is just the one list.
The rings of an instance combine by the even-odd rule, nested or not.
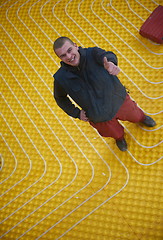
[(126, 97), (125, 87), (117, 76), (103, 66), (103, 58), (117, 65), (117, 57), (103, 49), (79, 47), (78, 67), (61, 62), (54, 74), (54, 98), (68, 115), (79, 118), (80, 109), (68, 95), (85, 110), (88, 119), (94, 123), (111, 120), (118, 112)]

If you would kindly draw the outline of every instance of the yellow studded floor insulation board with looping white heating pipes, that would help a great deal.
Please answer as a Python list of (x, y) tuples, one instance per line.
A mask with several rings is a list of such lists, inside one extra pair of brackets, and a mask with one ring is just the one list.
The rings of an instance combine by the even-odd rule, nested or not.
[[(161, 240), (162, 46), (139, 34), (161, 0), (1, 0), (1, 239)], [(117, 54), (157, 125), (123, 122), (128, 151), (53, 98), (53, 41)]]

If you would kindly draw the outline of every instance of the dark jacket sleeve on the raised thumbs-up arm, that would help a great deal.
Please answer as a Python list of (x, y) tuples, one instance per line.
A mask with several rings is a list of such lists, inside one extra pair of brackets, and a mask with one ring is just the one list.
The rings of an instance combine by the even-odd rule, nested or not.
[(93, 54), (95, 60), (100, 65), (104, 64), (104, 57), (107, 57), (108, 61), (113, 62), (115, 65), (118, 65), (117, 56), (113, 52), (105, 51), (101, 48), (94, 47), (93, 51), (92, 51), (92, 54)]

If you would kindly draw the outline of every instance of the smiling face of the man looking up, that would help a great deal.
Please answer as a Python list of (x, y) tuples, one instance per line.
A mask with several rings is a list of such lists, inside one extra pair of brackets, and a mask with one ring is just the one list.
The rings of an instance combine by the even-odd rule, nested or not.
[(80, 54), (78, 46), (66, 41), (61, 48), (55, 50), (57, 56), (66, 64), (71, 66), (78, 66), (80, 61)]

